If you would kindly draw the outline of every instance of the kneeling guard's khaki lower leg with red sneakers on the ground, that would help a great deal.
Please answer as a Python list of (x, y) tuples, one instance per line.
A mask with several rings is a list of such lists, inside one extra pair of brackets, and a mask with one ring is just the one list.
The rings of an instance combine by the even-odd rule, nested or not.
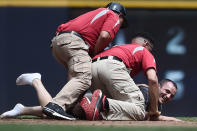
[(92, 98), (83, 97), (80, 101), (87, 120), (144, 120), (145, 112), (132, 102), (106, 98), (101, 90), (94, 91)]

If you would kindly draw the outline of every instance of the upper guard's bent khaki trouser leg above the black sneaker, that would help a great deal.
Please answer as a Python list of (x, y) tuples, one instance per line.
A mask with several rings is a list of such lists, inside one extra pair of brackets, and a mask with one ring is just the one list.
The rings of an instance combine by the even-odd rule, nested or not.
[[(69, 48), (63, 47), (64, 46), (61, 46), (61, 48), (56, 45), (53, 46), (53, 50), (55, 50), (54, 54), (57, 55), (55, 55), (56, 59), (59, 58), (58, 56), (63, 56), (63, 54), (59, 54), (59, 52), (63, 52)], [(68, 65), (68, 73), (71, 79), (52, 100), (53, 103), (60, 105), (64, 110), (75, 103), (79, 96), (89, 89), (91, 85), (91, 58), (88, 52), (86, 50), (72, 50), (72, 48), (67, 52), (70, 52), (68, 54), (72, 52), (72, 56), (70, 56), (69, 60), (62, 58), (59, 61), (65, 67)]]

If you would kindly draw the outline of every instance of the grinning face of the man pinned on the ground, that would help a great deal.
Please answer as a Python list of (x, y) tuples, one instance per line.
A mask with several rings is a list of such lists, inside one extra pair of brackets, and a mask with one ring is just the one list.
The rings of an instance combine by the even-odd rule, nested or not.
[(159, 103), (165, 104), (167, 102), (170, 102), (172, 98), (175, 96), (176, 91), (177, 90), (172, 84), (172, 82), (165, 83), (160, 88)]

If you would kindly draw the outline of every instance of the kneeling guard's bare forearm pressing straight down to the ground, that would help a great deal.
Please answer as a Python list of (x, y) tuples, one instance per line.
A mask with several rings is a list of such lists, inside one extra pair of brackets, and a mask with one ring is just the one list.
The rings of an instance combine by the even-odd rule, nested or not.
[(148, 109), (148, 114), (154, 117), (160, 115), (158, 112), (158, 99), (159, 99), (159, 86), (156, 71), (153, 68), (149, 68), (146, 71), (146, 76), (149, 85), (149, 96), (150, 96), (150, 106)]

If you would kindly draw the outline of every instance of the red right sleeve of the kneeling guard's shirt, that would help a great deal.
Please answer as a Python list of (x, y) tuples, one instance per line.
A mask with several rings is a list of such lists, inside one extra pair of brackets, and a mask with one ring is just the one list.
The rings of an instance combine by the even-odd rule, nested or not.
[(144, 51), (143, 60), (142, 60), (143, 71), (146, 72), (147, 69), (149, 68), (154, 68), (156, 71), (155, 58), (147, 49), (144, 49), (143, 51)]

